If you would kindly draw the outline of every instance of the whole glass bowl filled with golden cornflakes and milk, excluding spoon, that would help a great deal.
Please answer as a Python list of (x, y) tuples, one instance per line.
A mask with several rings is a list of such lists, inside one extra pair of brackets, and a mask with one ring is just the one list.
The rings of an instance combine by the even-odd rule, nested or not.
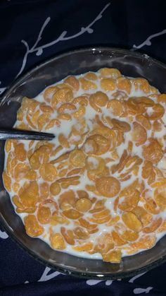
[(34, 258), (103, 279), (166, 260), (165, 74), (146, 55), (88, 48), (6, 91), (1, 127), (56, 135), (0, 143), (1, 223)]

